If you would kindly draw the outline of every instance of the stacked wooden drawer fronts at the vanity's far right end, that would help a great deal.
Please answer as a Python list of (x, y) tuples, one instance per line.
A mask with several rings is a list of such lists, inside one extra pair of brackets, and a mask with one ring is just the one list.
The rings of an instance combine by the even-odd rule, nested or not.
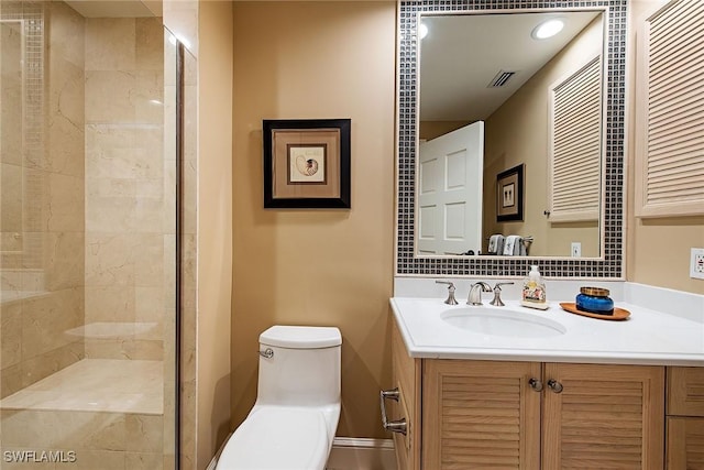
[(668, 368), (667, 469), (704, 469), (704, 368)]

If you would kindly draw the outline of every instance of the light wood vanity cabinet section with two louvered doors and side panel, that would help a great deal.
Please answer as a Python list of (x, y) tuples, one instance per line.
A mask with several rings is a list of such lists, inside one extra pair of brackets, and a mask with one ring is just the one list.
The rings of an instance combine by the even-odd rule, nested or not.
[(663, 367), (414, 360), (397, 331), (393, 349), (422, 375), (398, 470), (663, 468)]

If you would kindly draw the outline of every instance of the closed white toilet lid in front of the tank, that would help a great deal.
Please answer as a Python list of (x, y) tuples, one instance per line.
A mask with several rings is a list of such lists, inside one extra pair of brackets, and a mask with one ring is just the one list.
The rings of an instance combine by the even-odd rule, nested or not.
[(330, 450), (318, 409), (253, 409), (226, 444), (217, 470), (323, 469)]

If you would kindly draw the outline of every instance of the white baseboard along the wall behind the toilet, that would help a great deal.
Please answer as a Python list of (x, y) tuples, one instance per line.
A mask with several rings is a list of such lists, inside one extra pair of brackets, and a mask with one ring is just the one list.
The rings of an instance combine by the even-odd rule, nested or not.
[[(229, 438), (229, 436), (228, 436)], [(227, 442), (227, 439), (226, 439)], [(222, 448), (206, 470), (215, 470)], [(336, 437), (326, 470), (396, 470), (396, 453), (392, 439)]]

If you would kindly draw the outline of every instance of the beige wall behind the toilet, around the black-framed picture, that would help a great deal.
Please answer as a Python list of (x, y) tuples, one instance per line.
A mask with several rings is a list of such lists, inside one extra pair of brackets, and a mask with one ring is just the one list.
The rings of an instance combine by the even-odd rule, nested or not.
[[(395, 1), (234, 4), (233, 426), (255, 400), (258, 335), (329, 325), (343, 338), (338, 435), (388, 437), (395, 20)], [(352, 208), (264, 210), (262, 119), (327, 118), (352, 120)]]

